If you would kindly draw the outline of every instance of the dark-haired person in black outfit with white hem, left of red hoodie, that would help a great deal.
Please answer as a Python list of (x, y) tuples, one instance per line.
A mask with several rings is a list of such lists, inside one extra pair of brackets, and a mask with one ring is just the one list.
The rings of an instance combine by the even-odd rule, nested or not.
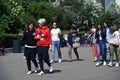
[(24, 30), (23, 33), (23, 41), (25, 44), (25, 49), (24, 49), (24, 55), (26, 57), (26, 62), (27, 62), (27, 68), (28, 72), (27, 74), (31, 74), (31, 61), (34, 63), (35, 66), (35, 72), (38, 70), (38, 64), (36, 61), (36, 40), (34, 40), (34, 34), (35, 34), (35, 28), (34, 28), (34, 23), (31, 21), (28, 23), (27, 29)]

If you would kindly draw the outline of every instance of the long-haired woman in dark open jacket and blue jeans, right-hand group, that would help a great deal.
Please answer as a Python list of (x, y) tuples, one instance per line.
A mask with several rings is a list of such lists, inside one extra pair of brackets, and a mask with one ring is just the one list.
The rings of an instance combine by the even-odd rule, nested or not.
[(95, 33), (97, 43), (97, 63), (96, 66), (100, 66), (100, 51), (102, 51), (103, 65), (106, 65), (106, 33), (103, 31), (101, 24), (98, 24), (98, 28)]

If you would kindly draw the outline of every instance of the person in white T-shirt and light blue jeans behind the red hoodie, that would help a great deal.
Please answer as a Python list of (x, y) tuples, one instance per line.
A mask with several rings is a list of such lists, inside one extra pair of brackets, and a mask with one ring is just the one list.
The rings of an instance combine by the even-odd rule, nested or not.
[(57, 28), (56, 22), (53, 23), (53, 29), (51, 30), (52, 37), (52, 54), (51, 54), (51, 63), (55, 60), (55, 49), (57, 48), (58, 52), (58, 62), (62, 62), (61, 50), (60, 50), (60, 35), (61, 30)]

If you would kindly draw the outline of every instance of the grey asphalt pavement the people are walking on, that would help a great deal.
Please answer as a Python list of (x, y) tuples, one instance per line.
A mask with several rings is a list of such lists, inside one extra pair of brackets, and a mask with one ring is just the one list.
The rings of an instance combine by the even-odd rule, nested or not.
[[(6, 56), (0, 56), (0, 80), (120, 80), (120, 67), (95, 66), (91, 47), (79, 48), (81, 61), (73, 62), (67, 62), (67, 48), (61, 50), (63, 62), (52, 64), (54, 72), (45, 75), (35, 73), (26, 75), (27, 68), (23, 53), (8, 53)], [(73, 59), (75, 59), (74, 54)], [(48, 71), (46, 64), (45, 69)]]

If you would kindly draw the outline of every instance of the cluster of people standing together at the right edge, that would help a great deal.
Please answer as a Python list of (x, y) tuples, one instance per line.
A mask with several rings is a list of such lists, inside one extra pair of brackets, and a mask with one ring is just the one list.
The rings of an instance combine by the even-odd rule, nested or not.
[(93, 41), (93, 54), (94, 59), (96, 61), (96, 66), (98, 67), (101, 64), (103, 64), (112, 67), (114, 65), (114, 62), (116, 62), (115, 66), (118, 67), (118, 49), (120, 47), (120, 32), (116, 26), (108, 26), (107, 22), (104, 22), (103, 26), (104, 27), (102, 27), (102, 25), (99, 23), (97, 25), (97, 29), (91, 29), (90, 37), (92, 37)]

